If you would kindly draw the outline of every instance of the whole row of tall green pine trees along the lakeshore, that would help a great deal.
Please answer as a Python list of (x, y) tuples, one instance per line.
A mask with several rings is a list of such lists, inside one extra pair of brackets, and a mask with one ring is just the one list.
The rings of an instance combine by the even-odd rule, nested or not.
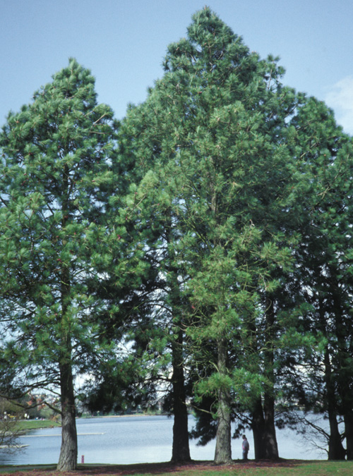
[(283, 74), (205, 8), (121, 123), (73, 59), (9, 114), (1, 394), (59, 393), (59, 470), (76, 467), (80, 374), (92, 408), (163, 391), (175, 461), (188, 405), (216, 463), (232, 422), (278, 458), (296, 408), (328, 418), (330, 459), (353, 458), (353, 142)]

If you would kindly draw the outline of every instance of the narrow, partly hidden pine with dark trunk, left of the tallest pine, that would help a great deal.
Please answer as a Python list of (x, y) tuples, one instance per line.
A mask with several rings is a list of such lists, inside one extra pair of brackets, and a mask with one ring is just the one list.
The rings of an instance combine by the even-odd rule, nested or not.
[[(151, 256), (151, 267), (155, 269), (155, 288), (148, 295), (152, 305), (149, 322), (141, 327), (149, 339), (148, 368), (152, 358), (153, 379), (157, 386), (162, 384), (165, 392), (164, 410), (174, 415), (172, 460), (186, 462), (191, 460), (185, 372), (187, 298), (175, 248), (179, 240), (178, 219), (172, 200), (163, 188), (157, 187), (157, 170), (150, 171), (163, 140), (163, 133), (158, 130), (160, 125), (151, 123), (150, 119), (150, 102), (131, 106), (119, 130), (119, 153), (122, 162), (133, 164), (130, 176), (136, 183), (140, 181), (138, 194), (145, 197), (138, 227), (140, 235), (145, 237), (144, 248)], [(150, 127), (146, 128), (146, 124)], [(164, 171), (160, 169), (160, 173)]]

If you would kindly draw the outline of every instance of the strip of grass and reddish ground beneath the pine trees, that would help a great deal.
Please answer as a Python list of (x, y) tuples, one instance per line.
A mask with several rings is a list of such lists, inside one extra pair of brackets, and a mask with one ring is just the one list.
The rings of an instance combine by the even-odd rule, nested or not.
[(249, 461), (215, 467), (210, 462), (191, 465), (151, 463), (144, 465), (78, 465), (77, 471), (57, 472), (54, 465), (1, 467), (0, 474), (12, 476), (352, 476), (353, 461), (280, 462)]

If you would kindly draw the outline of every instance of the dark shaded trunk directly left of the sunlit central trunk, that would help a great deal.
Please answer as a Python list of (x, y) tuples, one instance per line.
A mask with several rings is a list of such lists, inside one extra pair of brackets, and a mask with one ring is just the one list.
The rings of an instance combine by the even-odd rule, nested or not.
[(177, 341), (172, 344), (173, 362), (173, 446), (172, 462), (183, 463), (191, 461), (189, 448), (188, 410), (184, 383), (183, 362), (183, 331), (179, 329)]

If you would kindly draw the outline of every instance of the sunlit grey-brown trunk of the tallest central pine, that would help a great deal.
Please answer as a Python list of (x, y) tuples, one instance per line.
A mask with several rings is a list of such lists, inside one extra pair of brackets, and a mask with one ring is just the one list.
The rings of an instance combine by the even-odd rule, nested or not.
[[(227, 374), (227, 343), (225, 339), (220, 338), (217, 342), (218, 347), (218, 372), (221, 375)], [(217, 433), (215, 448), (215, 463), (232, 462), (232, 444), (231, 444), (231, 420), (230, 420), (230, 394), (226, 386), (222, 386), (218, 391), (217, 408)]]

